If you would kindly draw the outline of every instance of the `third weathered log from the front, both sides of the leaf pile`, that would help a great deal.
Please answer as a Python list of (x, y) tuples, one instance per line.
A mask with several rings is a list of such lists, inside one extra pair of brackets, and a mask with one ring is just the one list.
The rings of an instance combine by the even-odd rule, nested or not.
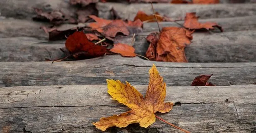
[[(135, 52), (145, 55), (149, 32), (136, 37)], [(256, 62), (256, 32), (195, 33), (192, 44), (185, 48), (189, 62)], [(0, 39), (0, 61), (44, 61), (50, 52), (54, 59), (63, 57), (64, 41), (43, 41), (31, 37)], [(124, 58), (125, 59), (125, 58)]]

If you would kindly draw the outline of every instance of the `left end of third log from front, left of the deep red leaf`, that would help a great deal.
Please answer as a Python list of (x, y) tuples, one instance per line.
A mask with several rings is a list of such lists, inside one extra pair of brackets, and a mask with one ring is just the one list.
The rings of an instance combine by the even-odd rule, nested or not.
[(49, 54), (54, 59), (65, 56), (59, 49), (65, 47), (63, 41), (13, 37), (0, 39), (0, 46), (0, 61), (45, 61), (45, 58), (50, 59)]

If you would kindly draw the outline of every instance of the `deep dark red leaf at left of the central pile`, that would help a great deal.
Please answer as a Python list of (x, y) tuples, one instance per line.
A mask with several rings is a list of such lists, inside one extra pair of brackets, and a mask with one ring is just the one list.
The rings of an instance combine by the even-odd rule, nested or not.
[(76, 31), (66, 39), (66, 48), (71, 53), (81, 53), (83, 58), (103, 56), (107, 49), (104, 46), (95, 45), (89, 41), (83, 31)]

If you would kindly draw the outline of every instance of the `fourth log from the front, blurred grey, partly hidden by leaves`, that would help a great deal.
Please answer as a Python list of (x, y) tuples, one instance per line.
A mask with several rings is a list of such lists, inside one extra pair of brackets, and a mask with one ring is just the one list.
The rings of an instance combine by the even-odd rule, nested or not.
[[(245, 17), (230, 17), (230, 18), (214, 18), (214, 19), (199, 19), (199, 22), (217, 22), (222, 26), (224, 31), (243, 31), (243, 30), (256, 30), (256, 15)], [(178, 21), (183, 24), (183, 21)], [(88, 23), (85, 23), (85, 25)], [(175, 22), (159, 22), (160, 27), (180, 27)], [(26, 19), (0, 19), (0, 35), (1, 37), (17, 37), (28, 36), (38, 39), (48, 39), (47, 34), (44, 33), (41, 26), (49, 26), (48, 23), (32, 22)], [(68, 29), (70, 27), (76, 27), (75, 24), (63, 24), (60, 29)], [(17, 32), (19, 31), (19, 32)], [(158, 31), (156, 23), (143, 24), (143, 32)], [(219, 31), (219, 30), (217, 30)]]

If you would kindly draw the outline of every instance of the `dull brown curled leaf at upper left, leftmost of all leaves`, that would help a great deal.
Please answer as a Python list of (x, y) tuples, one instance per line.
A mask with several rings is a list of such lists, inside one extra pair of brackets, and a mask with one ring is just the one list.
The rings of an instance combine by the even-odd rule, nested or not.
[(67, 20), (67, 18), (65, 18), (65, 14), (61, 11), (54, 10), (52, 12), (44, 12), (39, 8), (34, 8), (34, 11), (37, 13), (37, 16), (33, 17), (33, 20), (47, 21), (54, 25), (62, 24)]

